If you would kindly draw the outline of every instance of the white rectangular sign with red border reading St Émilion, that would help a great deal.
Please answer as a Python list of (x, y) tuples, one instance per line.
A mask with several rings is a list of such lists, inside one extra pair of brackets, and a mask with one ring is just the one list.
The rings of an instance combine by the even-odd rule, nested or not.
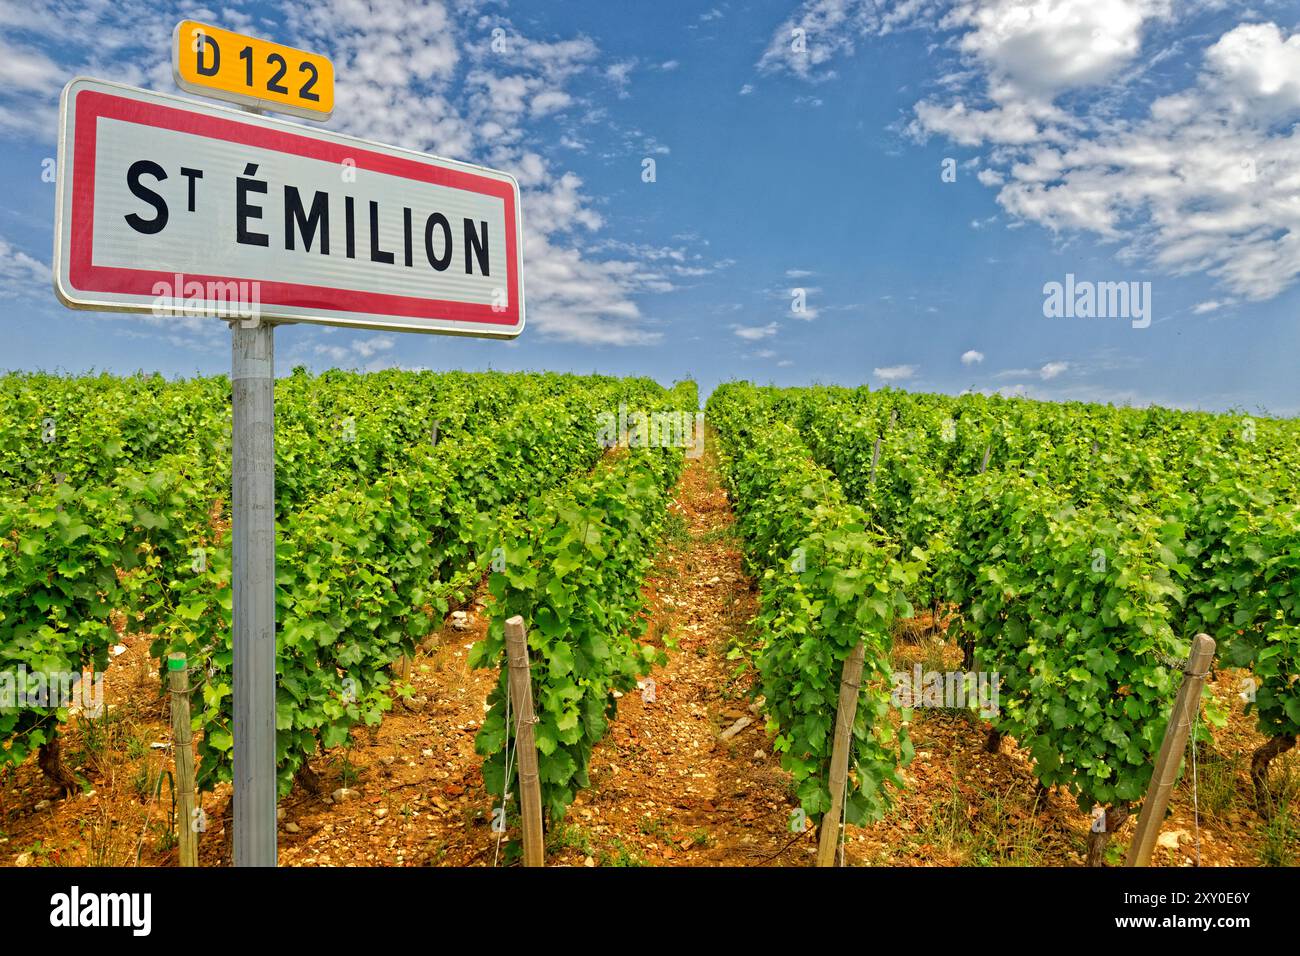
[(62, 92), (58, 170), (55, 290), (73, 308), (524, 328), (506, 173), (87, 78)]

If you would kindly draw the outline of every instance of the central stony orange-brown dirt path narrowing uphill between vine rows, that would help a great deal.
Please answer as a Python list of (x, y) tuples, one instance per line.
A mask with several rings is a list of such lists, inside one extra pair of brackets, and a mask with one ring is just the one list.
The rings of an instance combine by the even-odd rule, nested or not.
[[(619, 701), (592, 756), (592, 787), (552, 834), (558, 861), (621, 865), (794, 865), (814, 848), (790, 834), (796, 801), (762, 717), (750, 675), (727, 659), (757, 610), (741, 570), (733, 516), (710, 442), (688, 459), (670, 528), (646, 581), (649, 637), (667, 663), (640, 695)], [(653, 685), (651, 683), (653, 682)], [(733, 737), (719, 736), (749, 721)]]

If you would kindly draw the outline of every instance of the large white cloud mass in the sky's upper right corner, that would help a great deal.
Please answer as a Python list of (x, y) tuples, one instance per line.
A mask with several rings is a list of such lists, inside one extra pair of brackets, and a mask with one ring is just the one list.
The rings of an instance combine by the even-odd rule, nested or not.
[[(1204, 272), (1248, 299), (1275, 297), (1300, 277), (1300, 34), (1228, 29), (1192, 59), (1193, 82), (1152, 98), (1130, 82), (1160, 56), (1144, 38), (1188, 9), (958, 3), (944, 26), (959, 31), (957, 47), (978, 69), (952, 99), (918, 103), (907, 130), (992, 147), (978, 178), (997, 190), (1011, 226), (1092, 233), (1121, 259)], [(1057, 101), (1101, 82), (1130, 108)]]

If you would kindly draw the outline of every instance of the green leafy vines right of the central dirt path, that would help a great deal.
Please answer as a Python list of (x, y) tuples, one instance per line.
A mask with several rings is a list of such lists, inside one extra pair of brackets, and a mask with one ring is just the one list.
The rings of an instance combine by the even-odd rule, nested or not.
[[(1252, 675), (1266, 739), (1252, 796), (1268, 804), (1269, 765), (1300, 731), (1294, 423), (748, 385), (719, 389), (710, 412), (771, 581), (755, 666), (767, 693), (812, 704), (775, 717), (784, 762), (818, 782), (801, 792), (810, 814), (828, 805), (836, 665), (864, 640), (884, 675), (892, 623), (914, 605), (954, 617), (963, 663), (998, 676), (989, 748), (1020, 741), (1039, 786), (1101, 808), (1106, 836), (1145, 792), (1190, 641), (1209, 633)], [(845, 602), (852, 624), (824, 640)], [(888, 691), (868, 682), (854, 727), (850, 821), (879, 816), (911, 753), (879, 719)], [(1223, 721), (1210, 698), (1206, 740)], [(1092, 843), (1098, 862), (1105, 840)]]

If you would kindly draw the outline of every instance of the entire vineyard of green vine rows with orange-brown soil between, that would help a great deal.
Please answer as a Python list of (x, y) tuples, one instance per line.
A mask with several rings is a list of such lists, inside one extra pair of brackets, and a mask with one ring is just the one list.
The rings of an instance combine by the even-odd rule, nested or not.
[[(549, 862), (802, 865), (828, 827), (844, 862), (1115, 862), (1199, 633), (1173, 813), (1197, 855), (1221, 823), (1262, 847), (1226, 862), (1294, 861), (1294, 421), (733, 382), (698, 457), (659, 427), (698, 407), (606, 376), (276, 382), (285, 862), (516, 858), (516, 617)], [(0, 377), (0, 860), (176, 862), (185, 654), (200, 855), (229, 862), (230, 438), (225, 377)], [(914, 666), (948, 695), (901, 689)], [(56, 674), (107, 702), (47, 700)], [(942, 787), (954, 827), (1014, 839), (940, 839)]]

